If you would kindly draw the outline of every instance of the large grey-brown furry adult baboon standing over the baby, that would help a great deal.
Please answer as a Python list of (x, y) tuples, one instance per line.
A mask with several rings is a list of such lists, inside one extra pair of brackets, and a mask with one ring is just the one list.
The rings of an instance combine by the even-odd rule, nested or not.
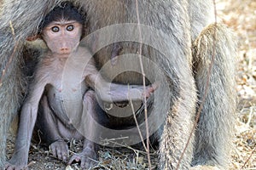
[[(73, 0), (71, 2), (79, 7), (84, 15), (86, 13), (88, 20), (84, 35), (104, 26), (137, 23), (135, 1)], [(0, 59), (1, 71), (3, 71), (0, 88), (1, 165), (5, 161), (5, 142), (9, 122), (20, 108), (21, 93), (26, 84), (20, 71), (23, 65), (21, 49), (26, 37), (38, 33), (41, 20), (58, 3), (61, 1), (7, 0), (3, 4), (0, 14)], [(150, 47), (151, 44), (144, 44), (142, 50), (143, 56), (162, 68), (162, 75), (165, 75), (169, 88), (169, 92), (166, 93), (165, 90), (161, 91), (160, 87), (162, 99), (154, 100), (154, 109), (150, 113), (157, 115), (164, 112), (166, 115), (163, 129), (157, 133), (160, 142), (159, 168), (177, 167), (177, 161), (191, 133), (196, 108), (202, 100), (204, 105), (195, 139), (190, 140), (180, 168), (188, 169), (196, 165), (227, 167), (235, 119), (233, 114), (236, 108), (235, 42), (230, 31), (221, 25), (208, 26), (211, 17), (209, 14), (214, 14), (212, 1), (141, 0), (138, 1), (138, 8), (141, 24), (158, 30), (152, 35), (144, 35), (148, 32), (142, 31), (143, 38), (149, 37), (151, 42), (156, 42), (157, 47), (164, 48), (161, 51), (160, 48)], [(101, 42), (102, 37), (104, 35), (98, 34), (94, 38), (96, 42)], [(131, 40), (119, 42), (121, 47), (119, 54), (137, 54), (140, 47), (137, 42)], [(110, 79), (116, 75), (118, 68), (127, 65), (124, 62), (105, 65), (112, 58), (112, 54), (111, 45), (102, 48), (95, 56), (99, 68), (103, 66), (104, 77)], [(211, 62), (213, 54), (215, 58)], [(211, 66), (212, 69), (209, 71)], [(154, 75), (154, 68), (151, 69), (151, 73)], [(210, 75), (209, 80), (208, 75)], [(113, 82), (142, 84), (143, 81), (137, 73), (125, 71), (115, 77)], [(158, 119), (154, 121), (155, 124), (160, 123)]]

